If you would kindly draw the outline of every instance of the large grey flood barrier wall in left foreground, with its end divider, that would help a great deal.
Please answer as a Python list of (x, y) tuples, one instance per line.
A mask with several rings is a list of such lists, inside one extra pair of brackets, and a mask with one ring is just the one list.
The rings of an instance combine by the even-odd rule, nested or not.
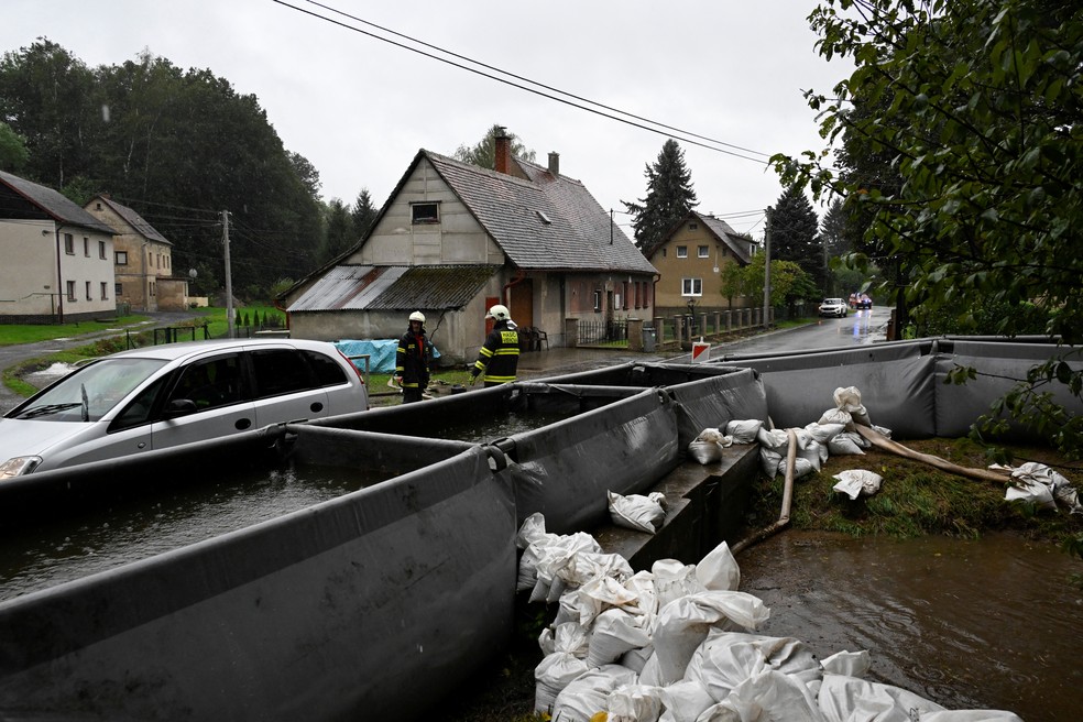
[(294, 463), (444, 459), (0, 603), (0, 716), (412, 719), (506, 644), (518, 527), (496, 450), (288, 431)]

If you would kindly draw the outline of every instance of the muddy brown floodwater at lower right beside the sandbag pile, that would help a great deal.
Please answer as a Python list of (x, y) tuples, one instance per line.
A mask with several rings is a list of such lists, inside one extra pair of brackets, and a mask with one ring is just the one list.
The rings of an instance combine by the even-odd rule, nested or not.
[(867, 679), (950, 710), (1083, 720), (1083, 591), (1068, 581), (1083, 562), (1054, 545), (784, 532), (737, 562), (741, 590), (770, 608), (765, 634), (820, 658), (867, 649)]

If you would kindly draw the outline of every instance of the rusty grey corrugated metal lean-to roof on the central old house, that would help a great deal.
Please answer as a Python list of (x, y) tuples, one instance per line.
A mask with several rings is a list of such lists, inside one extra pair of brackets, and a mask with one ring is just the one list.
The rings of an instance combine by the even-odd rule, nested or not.
[(337, 265), (286, 310), (445, 310), (462, 308), (499, 266)]

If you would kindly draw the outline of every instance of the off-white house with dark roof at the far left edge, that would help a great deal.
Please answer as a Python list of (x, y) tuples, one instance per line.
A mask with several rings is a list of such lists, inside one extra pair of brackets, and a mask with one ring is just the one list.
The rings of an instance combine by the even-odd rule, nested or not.
[(117, 313), (113, 229), (52, 188), (0, 172), (0, 322)]

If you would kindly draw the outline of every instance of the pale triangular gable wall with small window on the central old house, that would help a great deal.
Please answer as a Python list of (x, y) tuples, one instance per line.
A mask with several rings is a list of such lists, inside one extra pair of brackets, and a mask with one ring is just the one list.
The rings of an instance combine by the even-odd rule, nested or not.
[[(412, 222), (412, 203), (439, 204), (439, 222)], [(364, 245), (344, 263), (504, 264), (504, 253), (426, 158), (403, 184)]]

